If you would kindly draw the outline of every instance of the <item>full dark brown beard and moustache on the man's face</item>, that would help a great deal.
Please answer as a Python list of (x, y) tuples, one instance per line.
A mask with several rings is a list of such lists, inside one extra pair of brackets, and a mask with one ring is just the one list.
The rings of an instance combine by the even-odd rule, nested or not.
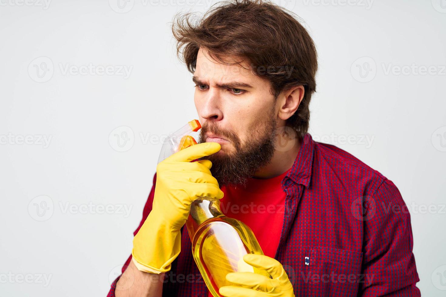
[(198, 142), (205, 142), (205, 134), (211, 131), (214, 134), (225, 137), (232, 143), (235, 150), (231, 153), (218, 153), (201, 159), (212, 162), (211, 173), (217, 179), (219, 186), (246, 185), (248, 178), (252, 177), (260, 168), (268, 165), (274, 155), (274, 139), (277, 130), (277, 122), (273, 115), (266, 117), (268, 122), (264, 125), (263, 133), (260, 125), (250, 129), (251, 138), (247, 139), (243, 146), (240, 138), (232, 131), (223, 130), (219, 126), (206, 122), (200, 130)]

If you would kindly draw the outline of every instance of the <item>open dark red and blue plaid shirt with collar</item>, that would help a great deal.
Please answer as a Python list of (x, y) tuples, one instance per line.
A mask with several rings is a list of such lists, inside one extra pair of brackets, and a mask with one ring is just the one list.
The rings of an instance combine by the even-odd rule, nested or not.
[[(155, 182), (156, 175), (135, 235), (151, 211)], [(421, 296), (410, 215), (390, 180), (307, 133), (282, 188), (285, 216), (275, 259), (296, 296)], [(181, 244), (163, 296), (207, 297), (185, 230)]]

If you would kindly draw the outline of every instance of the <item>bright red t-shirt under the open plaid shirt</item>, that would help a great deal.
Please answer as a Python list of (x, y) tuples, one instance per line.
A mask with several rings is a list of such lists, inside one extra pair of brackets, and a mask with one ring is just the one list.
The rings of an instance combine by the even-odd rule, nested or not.
[[(249, 179), (246, 188), (222, 187), (221, 211), (248, 225), (266, 256), (274, 258), (285, 213), (285, 192), (281, 182), (286, 173), (272, 179)], [(208, 295), (212, 297), (211, 293)]]

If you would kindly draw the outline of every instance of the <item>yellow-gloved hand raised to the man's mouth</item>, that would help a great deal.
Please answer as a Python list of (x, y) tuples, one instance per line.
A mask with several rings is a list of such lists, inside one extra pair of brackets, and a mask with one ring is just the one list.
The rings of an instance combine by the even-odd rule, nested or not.
[(216, 142), (196, 144), (158, 164), (152, 211), (133, 239), (132, 259), (138, 270), (157, 274), (169, 271), (181, 251), (180, 229), (189, 216), (190, 204), (202, 196), (223, 198), (209, 171), (211, 161), (190, 162), (220, 148)]

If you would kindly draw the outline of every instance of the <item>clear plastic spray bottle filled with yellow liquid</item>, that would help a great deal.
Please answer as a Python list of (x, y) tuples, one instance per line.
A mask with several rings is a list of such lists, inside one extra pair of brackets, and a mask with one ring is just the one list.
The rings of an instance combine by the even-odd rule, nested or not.
[[(161, 149), (158, 163), (181, 149), (197, 144), (189, 134), (200, 128), (198, 120), (193, 120), (169, 135)], [(267, 272), (244, 262), (244, 255), (263, 255), (262, 249), (247, 225), (221, 212), (219, 199), (196, 199), (190, 206), (186, 227), (192, 240), (195, 263), (213, 296), (221, 297), (219, 288), (232, 285), (226, 280), (227, 273), (256, 272), (269, 277)]]

